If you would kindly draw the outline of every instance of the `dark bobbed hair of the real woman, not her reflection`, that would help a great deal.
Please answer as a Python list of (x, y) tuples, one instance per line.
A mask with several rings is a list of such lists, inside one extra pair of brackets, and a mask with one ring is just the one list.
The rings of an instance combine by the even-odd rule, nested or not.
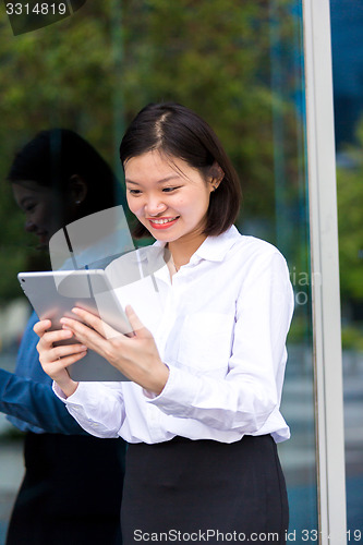
[[(124, 166), (132, 157), (157, 149), (168, 157), (184, 160), (206, 178), (214, 175), (216, 166), (223, 179), (210, 193), (207, 225), (204, 233), (220, 234), (235, 221), (241, 204), (239, 177), (213, 129), (194, 111), (184, 106), (166, 102), (143, 108), (129, 126), (120, 146)], [(149, 235), (137, 221), (135, 238)]]

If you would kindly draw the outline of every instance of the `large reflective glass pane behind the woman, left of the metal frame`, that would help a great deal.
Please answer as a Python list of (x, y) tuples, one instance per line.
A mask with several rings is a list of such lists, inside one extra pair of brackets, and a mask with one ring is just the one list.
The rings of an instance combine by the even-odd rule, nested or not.
[[(20, 19), (4, 12), (0, 19), (2, 180), (15, 153), (36, 133), (64, 128), (110, 166), (119, 179), (113, 196), (122, 202), (118, 146), (126, 123), (147, 102), (179, 101), (209, 121), (240, 174), (240, 230), (285, 254), (295, 291), (282, 399), (292, 437), (279, 450), (290, 532), (299, 542), (302, 530), (317, 529), (302, 1), (71, 2), (73, 12), (48, 13), (43, 20), (27, 14), (23, 4)], [(55, 194), (59, 154), (56, 135), (51, 180), (45, 181)], [(61, 203), (52, 201), (52, 217), (63, 214)], [(49, 267), (47, 253), (36, 250), (46, 229), (28, 222), (29, 232), (23, 232), (29, 211), (16, 207), (11, 184), (3, 182), (0, 300), (8, 329), (0, 329), (0, 366), (8, 372), (14, 370), (29, 312), (16, 274)], [(7, 435), (0, 440), (9, 444), (10, 427), (1, 422)], [(0, 477), (5, 497), (1, 483)], [(4, 532), (5, 518), (0, 522)]]

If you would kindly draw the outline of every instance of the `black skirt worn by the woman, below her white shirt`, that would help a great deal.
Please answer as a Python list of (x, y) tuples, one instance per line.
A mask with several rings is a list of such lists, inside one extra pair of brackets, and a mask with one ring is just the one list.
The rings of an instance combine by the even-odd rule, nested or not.
[(286, 543), (286, 484), (270, 435), (134, 444), (126, 453), (124, 545)]

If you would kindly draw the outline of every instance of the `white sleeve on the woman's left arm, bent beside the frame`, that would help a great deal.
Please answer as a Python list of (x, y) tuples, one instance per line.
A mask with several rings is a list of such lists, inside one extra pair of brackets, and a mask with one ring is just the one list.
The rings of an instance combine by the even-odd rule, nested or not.
[[(237, 300), (226, 377), (191, 375), (171, 366), (165, 389), (149, 403), (168, 415), (193, 419), (221, 432), (258, 433), (279, 408), (292, 310), (293, 293), (281, 254), (255, 259)], [(206, 338), (201, 347), (196, 334), (194, 338), (194, 354), (209, 354)]]

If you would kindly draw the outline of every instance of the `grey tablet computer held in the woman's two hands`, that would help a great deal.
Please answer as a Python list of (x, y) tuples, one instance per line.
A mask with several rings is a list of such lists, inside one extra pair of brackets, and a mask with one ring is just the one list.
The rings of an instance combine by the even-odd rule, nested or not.
[[(131, 334), (132, 327), (102, 269), (59, 270), (45, 272), (20, 272), (21, 287), (32, 303), (39, 319), (50, 319), (51, 330), (61, 329), (60, 319), (65, 316), (80, 317), (72, 313), (74, 306), (100, 316), (121, 334)], [(61, 341), (74, 344), (74, 338)], [(97, 352), (87, 354), (70, 365), (68, 372), (73, 380), (128, 380)]]

